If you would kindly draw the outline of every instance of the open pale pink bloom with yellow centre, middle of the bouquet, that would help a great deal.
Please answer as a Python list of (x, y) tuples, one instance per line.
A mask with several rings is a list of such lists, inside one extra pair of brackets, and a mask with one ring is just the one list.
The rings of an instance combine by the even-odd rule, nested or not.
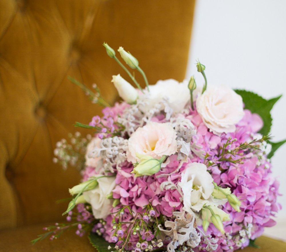
[(140, 162), (136, 153), (160, 159), (177, 151), (176, 131), (168, 123), (150, 122), (138, 128), (128, 139), (127, 160)]

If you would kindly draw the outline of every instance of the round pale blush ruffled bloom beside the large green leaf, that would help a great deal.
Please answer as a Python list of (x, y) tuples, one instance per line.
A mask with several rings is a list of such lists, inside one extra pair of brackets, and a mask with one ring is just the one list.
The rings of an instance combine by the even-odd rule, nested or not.
[(205, 125), (216, 135), (235, 131), (235, 124), (243, 115), (240, 95), (229, 87), (210, 86), (199, 95), (196, 108)]

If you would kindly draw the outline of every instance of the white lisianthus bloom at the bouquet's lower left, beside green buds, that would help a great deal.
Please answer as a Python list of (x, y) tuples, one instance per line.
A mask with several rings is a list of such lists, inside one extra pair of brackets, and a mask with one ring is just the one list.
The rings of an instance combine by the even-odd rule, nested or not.
[[(102, 176), (100, 174), (95, 177)], [(84, 192), (84, 199), (92, 206), (92, 213), (96, 219), (105, 218), (110, 214), (112, 200), (107, 199), (108, 194), (115, 187), (115, 177), (104, 177), (97, 180), (98, 186), (93, 190)]]

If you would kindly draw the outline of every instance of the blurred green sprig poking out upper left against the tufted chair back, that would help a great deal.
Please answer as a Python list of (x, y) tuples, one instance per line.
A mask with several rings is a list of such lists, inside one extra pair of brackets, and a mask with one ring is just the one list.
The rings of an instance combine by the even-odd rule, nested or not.
[(101, 105), (103, 107), (110, 107), (110, 104), (104, 99), (104, 97), (102, 96), (102, 94), (100, 92), (100, 89), (98, 88), (98, 86), (96, 84), (92, 85), (92, 88), (96, 91), (96, 93), (94, 93), (85, 84), (80, 83), (75, 78), (72, 78), (71, 76), (69, 76), (68, 79), (72, 83), (79, 86), (86, 93), (86, 95), (89, 97), (89, 99), (90, 99), (90, 101), (92, 101), (92, 103), (98, 103), (99, 105)]

